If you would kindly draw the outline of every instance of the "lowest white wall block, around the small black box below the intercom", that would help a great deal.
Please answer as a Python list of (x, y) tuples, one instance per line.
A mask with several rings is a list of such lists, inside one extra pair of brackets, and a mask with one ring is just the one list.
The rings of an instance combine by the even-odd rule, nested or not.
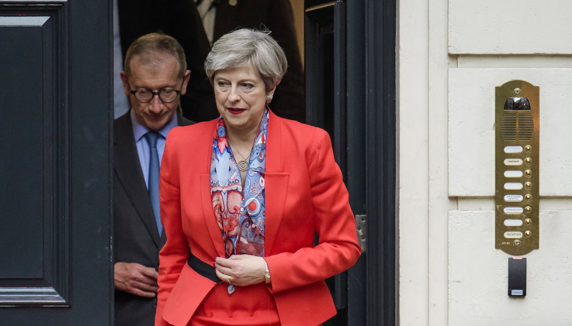
[(494, 249), (494, 219), (492, 210), (449, 212), (448, 324), (572, 325), (572, 245), (562, 245), (572, 210), (541, 211), (541, 248), (524, 256), (525, 298), (507, 295), (509, 256)]

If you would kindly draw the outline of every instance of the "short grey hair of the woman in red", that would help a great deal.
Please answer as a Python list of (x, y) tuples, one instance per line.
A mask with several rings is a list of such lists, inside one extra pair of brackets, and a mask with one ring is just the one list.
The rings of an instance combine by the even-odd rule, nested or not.
[(288, 62), (284, 50), (270, 36), (271, 31), (239, 29), (223, 35), (205, 60), (205, 72), (213, 83), (216, 71), (251, 65), (264, 81), (266, 90), (278, 85)]

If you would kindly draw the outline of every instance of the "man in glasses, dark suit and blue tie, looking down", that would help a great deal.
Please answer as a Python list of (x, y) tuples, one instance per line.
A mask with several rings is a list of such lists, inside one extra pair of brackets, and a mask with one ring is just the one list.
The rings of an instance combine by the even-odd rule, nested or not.
[(177, 112), (189, 77), (184, 51), (168, 35), (143, 35), (126, 53), (121, 81), (131, 108), (113, 126), (117, 326), (154, 324), (158, 252), (166, 240), (158, 171), (169, 130), (192, 123)]

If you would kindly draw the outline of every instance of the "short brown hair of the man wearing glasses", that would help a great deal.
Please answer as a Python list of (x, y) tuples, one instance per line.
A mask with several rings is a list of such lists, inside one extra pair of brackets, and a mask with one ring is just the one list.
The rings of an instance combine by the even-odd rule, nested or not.
[(185, 51), (176, 39), (161, 32), (145, 34), (131, 43), (125, 55), (125, 73), (131, 75), (133, 58), (137, 57), (148, 65), (156, 65), (161, 57), (160, 53), (173, 55), (179, 63), (178, 77), (185, 75)]

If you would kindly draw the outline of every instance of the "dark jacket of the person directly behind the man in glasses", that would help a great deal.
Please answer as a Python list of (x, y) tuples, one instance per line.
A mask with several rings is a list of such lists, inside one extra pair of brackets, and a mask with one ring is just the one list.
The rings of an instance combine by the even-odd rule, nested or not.
[(174, 37), (185, 51), (190, 70), (187, 92), (181, 96), (185, 117), (201, 121), (202, 112), (216, 115), (213, 88), (204, 69), (209, 42), (194, 1), (117, 0), (117, 9), (123, 58), (129, 45), (141, 35), (162, 31)]

